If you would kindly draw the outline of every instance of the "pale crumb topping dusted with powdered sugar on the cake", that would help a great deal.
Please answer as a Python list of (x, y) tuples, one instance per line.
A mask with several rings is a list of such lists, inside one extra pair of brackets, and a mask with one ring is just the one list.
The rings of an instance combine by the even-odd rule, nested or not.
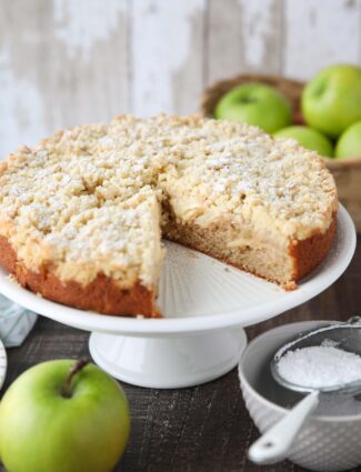
[(252, 227), (280, 245), (327, 231), (337, 211), (330, 172), (295, 141), (197, 116), (124, 116), (11, 154), (0, 169), (0, 234), (31, 270), (151, 287), (164, 199), (181, 222)]

